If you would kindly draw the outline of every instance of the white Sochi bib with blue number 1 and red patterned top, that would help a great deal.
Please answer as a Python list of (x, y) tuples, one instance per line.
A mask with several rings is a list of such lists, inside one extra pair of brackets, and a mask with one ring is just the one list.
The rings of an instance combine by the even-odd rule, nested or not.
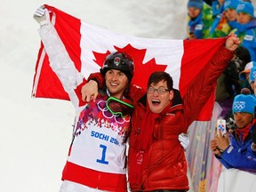
[(124, 139), (130, 116), (112, 115), (105, 107), (106, 101), (98, 100), (81, 112), (68, 162), (99, 172), (125, 174)]

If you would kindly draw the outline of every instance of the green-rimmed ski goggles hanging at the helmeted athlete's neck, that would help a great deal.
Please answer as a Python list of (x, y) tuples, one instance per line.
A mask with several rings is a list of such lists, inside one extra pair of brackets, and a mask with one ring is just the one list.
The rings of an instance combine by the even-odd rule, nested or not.
[(106, 106), (113, 115), (120, 115), (123, 118), (124, 116), (131, 115), (133, 111), (133, 106), (128, 103), (130, 100), (125, 101), (109, 97)]

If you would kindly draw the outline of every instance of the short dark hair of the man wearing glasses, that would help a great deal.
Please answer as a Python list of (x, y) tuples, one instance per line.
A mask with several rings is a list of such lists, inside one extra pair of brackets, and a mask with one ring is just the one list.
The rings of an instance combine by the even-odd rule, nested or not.
[(158, 84), (160, 81), (163, 81), (163, 80), (164, 82), (166, 82), (168, 89), (172, 90), (172, 86), (173, 86), (172, 76), (170, 76), (170, 74), (164, 71), (156, 71), (152, 73), (148, 79), (148, 87), (151, 84)]

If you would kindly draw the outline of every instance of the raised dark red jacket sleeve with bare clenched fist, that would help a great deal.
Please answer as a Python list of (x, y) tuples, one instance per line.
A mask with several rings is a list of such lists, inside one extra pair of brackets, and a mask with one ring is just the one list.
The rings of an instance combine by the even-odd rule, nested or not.
[(226, 40), (226, 44), (220, 46), (220, 49), (213, 55), (212, 59), (200, 71), (196, 79), (189, 86), (188, 91), (183, 97), (184, 113), (186, 126), (195, 121), (204, 104), (207, 102), (218, 77), (228, 66), (228, 61), (234, 56), (234, 51), (240, 44), (239, 38), (231, 34)]

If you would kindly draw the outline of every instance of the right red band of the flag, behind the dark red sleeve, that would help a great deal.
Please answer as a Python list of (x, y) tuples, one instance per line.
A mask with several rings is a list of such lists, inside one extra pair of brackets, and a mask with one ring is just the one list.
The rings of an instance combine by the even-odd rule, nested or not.
[[(183, 96), (193, 83), (196, 76), (204, 68), (205, 64), (212, 59), (212, 56), (225, 44), (226, 38), (204, 39), (204, 40), (184, 40), (184, 55), (180, 67), (180, 94)], [(209, 121), (212, 118), (212, 109), (215, 101), (215, 92), (202, 108), (197, 120)]]

